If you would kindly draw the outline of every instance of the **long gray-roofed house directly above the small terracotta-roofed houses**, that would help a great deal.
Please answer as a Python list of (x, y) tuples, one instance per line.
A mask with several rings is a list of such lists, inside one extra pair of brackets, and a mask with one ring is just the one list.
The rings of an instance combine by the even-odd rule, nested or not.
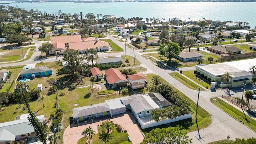
[(108, 58), (106, 56), (102, 56), (100, 58), (98, 58), (97, 64), (103, 64), (103, 65), (117, 65), (117, 64), (122, 64), (122, 57), (121, 56), (116, 56), (116, 57), (112, 57), (112, 58)]

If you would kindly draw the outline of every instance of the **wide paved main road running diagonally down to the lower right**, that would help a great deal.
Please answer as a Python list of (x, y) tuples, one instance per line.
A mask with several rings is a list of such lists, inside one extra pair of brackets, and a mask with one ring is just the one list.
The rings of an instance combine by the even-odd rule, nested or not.
[[(124, 45), (112, 36), (108, 36), (108, 38), (121, 48), (125, 49)], [(134, 51), (130, 48), (126, 48), (126, 54), (133, 56)], [(196, 90), (187, 88), (178, 80), (172, 78), (168, 74), (168, 71), (154, 66), (154, 64), (152, 64), (149, 60), (144, 59), (140, 54), (135, 53), (135, 57), (142, 63), (141, 66), (147, 68), (149, 72), (160, 75), (167, 82), (172, 84), (172, 86), (176, 87), (178, 90), (186, 94), (186, 96), (191, 98), (194, 102), (197, 101), (198, 92)], [(199, 105), (212, 115), (212, 124), (210, 127), (205, 128), (204, 130), (200, 130), (202, 137), (201, 140), (198, 140), (197, 131), (190, 132), (188, 135), (193, 138), (193, 143), (205, 144), (215, 140), (226, 139), (227, 135), (230, 135), (230, 139), (232, 140), (235, 140), (235, 138), (256, 137), (256, 134), (252, 130), (250, 130), (237, 120), (234, 120), (234, 118), (232, 118), (210, 102), (211, 97), (221, 96), (222, 94), (224, 95), (223, 90), (217, 90), (216, 92), (211, 92), (210, 90), (207, 90), (200, 94)]]

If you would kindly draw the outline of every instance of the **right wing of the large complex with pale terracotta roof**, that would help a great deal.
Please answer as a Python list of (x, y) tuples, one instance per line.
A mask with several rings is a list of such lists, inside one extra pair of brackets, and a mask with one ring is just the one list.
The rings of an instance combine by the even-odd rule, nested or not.
[(88, 49), (94, 49), (96, 52), (101, 52), (108, 51), (110, 47), (108, 42), (104, 42), (96, 38), (95, 40), (89, 40), (84, 42), (71, 42), (69, 43), (69, 48), (78, 50), (80, 54), (84, 54)]

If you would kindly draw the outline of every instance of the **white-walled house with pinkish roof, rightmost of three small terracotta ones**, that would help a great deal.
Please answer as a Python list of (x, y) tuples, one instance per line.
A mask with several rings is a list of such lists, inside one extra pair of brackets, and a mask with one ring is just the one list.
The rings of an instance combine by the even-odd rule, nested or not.
[(142, 74), (131, 74), (128, 75), (129, 86), (134, 90), (138, 88), (144, 88), (145, 77)]

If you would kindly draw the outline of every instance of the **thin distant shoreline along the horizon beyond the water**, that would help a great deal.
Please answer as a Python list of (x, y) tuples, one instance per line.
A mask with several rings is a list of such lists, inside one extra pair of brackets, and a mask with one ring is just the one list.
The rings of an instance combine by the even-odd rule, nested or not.
[(102, 3), (102, 2), (256, 2), (256, 0), (133, 0), (133, 1), (124, 1), (124, 0), (4, 0), (5, 2), (1, 3), (0, 5), (4, 4), (15, 4), (15, 3), (37, 3), (37, 2), (74, 2), (74, 3)]

